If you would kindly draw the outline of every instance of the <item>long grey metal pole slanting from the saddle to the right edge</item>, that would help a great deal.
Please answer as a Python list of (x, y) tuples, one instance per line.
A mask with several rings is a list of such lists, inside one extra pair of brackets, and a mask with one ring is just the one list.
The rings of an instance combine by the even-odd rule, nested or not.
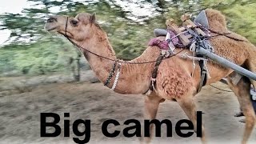
[(209, 50), (206, 50), (206, 49), (200, 47), (196, 50), (196, 52), (198, 54), (205, 55), (206, 57), (218, 62), (222, 66), (225, 66), (225, 67), (228, 67), (228, 68), (234, 70), (238, 74), (242, 74), (242, 75), (246, 76), (247, 78), (250, 78), (250, 79), (253, 79), (254, 81), (256, 81), (256, 74), (254, 74), (253, 72), (246, 70), (246, 69), (242, 68), (241, 66), (238, 66), (238, 65), (234, 64), (233, 62), (230, 62), (229, 60), (210, 52)]

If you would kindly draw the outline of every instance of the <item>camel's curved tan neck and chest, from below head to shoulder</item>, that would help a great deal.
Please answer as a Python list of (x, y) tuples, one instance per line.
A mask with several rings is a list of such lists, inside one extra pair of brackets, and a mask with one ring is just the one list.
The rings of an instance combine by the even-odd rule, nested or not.
[[(114, 50), (112, 46), (110, 46), (110, 42), (102, 30), (96, 32), (93, 38), (90, 38), (87, 42), (82, 43), (82, 47), (86, 48), (86, 50), (90, 50), (95, 54), (106, 58), (116, 59)], [(82, 50), (82, 53), (89, 62), (91, 69), (94, 70), (94, 74), (101, 82), (106, 82), (114, 62), (90, 54), (86, 50)], [(151, 48), (150, 51), (151, 52), (146, 50), (140, 57), (135, 58), (130, 62), (148, 62), (158, 57), (159, 53), (156, 52), (158, 50)], [(154, 63), (142, 65), (122, 63), (118, 84), (114, 91), (119, 94), (142, 94), (146, 92), (150, 86), (150, 76), (153, 68)], [(113, 86), (114, 78), (115, 74), (109, 87)]]

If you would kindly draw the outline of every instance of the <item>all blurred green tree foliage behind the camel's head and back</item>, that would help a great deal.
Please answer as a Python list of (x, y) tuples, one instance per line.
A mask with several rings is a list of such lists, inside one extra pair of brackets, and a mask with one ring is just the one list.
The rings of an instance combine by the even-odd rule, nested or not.
[[(75, 16), (80, 12), (96, 13), (98, 22), (106, 30), (118, 58), (132, 59), (142, 54), (155, 28), (165, 28), (166, 18), (177, 22), (184, 13), (195, 16), (207, 7), (226, 14), (230, 30), (242, 34), (256, 43), (256, 2), (250, 0), (158, 0), (130, 1), (140, 6), (150, 6), (150, 15), (136, 15), (126, 10), (120, 1), (98, 0), (77, 2), (73, 0), (29, 0), (34, 6), (22, 14), (0, 15), (0, 30), (11, 30), (9, 44), (0, 49), (0, 72), (18, 70), (22, 74), (46, 74), (65, 71), (69, 58), (76, 57), (70, 42), (43, 30), (47, 15), (53, 7), (57, 14)], [(8, 43), (8, 42), (7, 42)]]

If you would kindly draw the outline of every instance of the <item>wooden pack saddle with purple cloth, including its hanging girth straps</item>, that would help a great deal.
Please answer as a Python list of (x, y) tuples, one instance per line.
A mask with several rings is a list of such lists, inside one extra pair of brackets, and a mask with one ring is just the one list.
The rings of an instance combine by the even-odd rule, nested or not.
[[(205, 46), (206, 49), (212, 49), (210, 42), (207, 40), (207, 37), (210, 37), (210, 31), (208, 19), (206, 17), (205, 10), (202, 10), (198, 16), (194, 19), (194, 22), (190, 20), (190, 14), (183, 14), (181, 17), (182, 26), (177, 26), (174, 22), (174, 19), (170, 18), (166, 20), (167, 30), (156, 29), (154, 34), (156, 36), (166, 36), (166, 41), (161, 41), (158, 38), (153, 38), (149, 42), (149, 46), (158, 46), (162, 51), (169, 52), (170, 54), (161, 53), (158, 59), (161, 59), (166, 55), (174, 54), (175, 48), (190, 48), (194, 43), (194, 46)], [(198, 39), (200, 42), (198, 42)], [(208, 46), (208, 47), (207, 47)], [(202, 55), (196, 54), (196, 57), (203, 58)], [(160, 61), (161, 62), (161, 61)], [(157, 62), (155, 65), (154, 72), (151, 78), (150, 91), (154, 89), (156, 72), (160, 62)], [(206, 85), (207, 79), (207, 70), (206, 63), (203, 60), (198, 60), (198, 64), (201, 68), (201, 82), (198, 86), (198, 92), (202, 89), (202, 86)]]

